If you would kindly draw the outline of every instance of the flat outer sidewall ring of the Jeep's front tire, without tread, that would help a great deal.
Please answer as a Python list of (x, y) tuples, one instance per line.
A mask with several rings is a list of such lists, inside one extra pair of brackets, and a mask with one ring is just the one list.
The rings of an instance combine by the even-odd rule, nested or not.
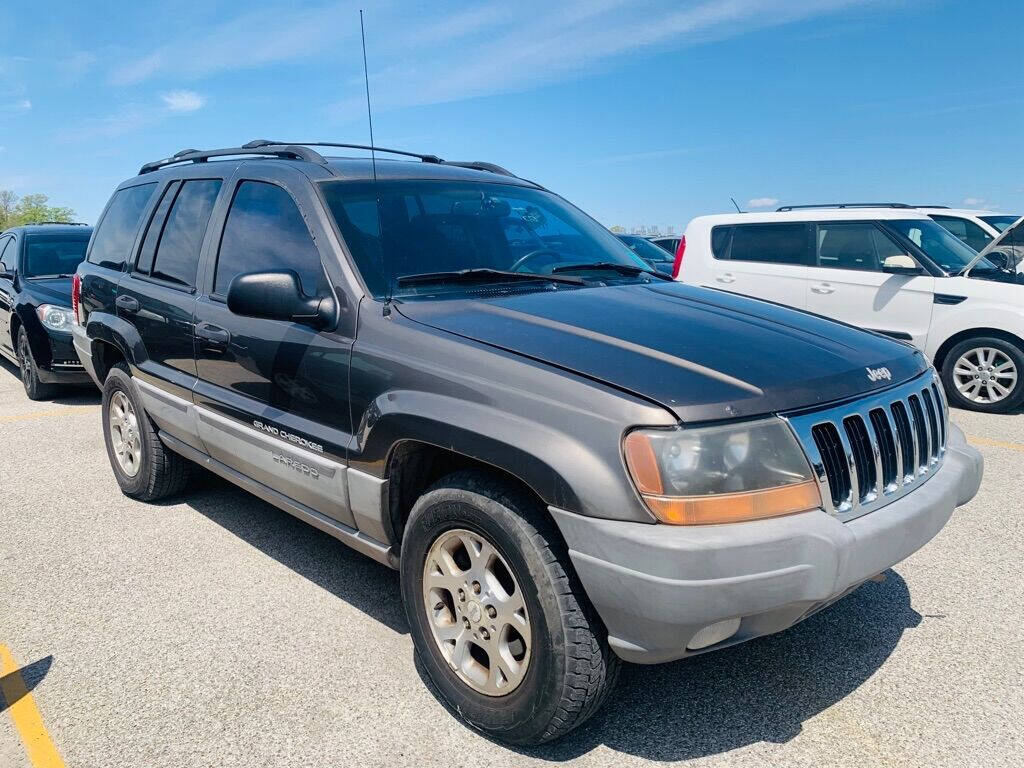
[[(441, 655), (423, 600), (427, 553), (446, 530), (465, 528), (486, 539), (505, 558), (522, 590), (530, 621), (530, 659), (522, 682), (504, 696), (487, 696), (462, 682)], [(417, 653), (447, 705), (475, 728), (508, 741), (536, 738), (553, 716), (565, 671), (565, 638), (550, 577), (519, 518), (504, 504), (465, 488), (425, 495), (407, 524), (401, 591)]]

